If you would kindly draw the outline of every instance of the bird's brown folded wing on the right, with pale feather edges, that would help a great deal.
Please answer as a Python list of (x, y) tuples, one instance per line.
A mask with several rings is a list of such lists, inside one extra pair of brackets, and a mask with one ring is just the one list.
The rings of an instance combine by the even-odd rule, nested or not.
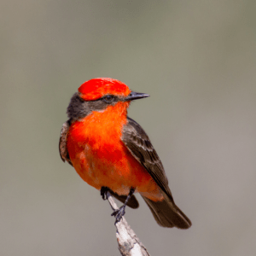
[(123, 128), (122, 141), (131, 154), (147, 169), (160, 189), (165, 191), (166, 195), (172, 199), (166, 172), (158, 154), (143, 128), (129, 117), (127, 117), (127, 124)]

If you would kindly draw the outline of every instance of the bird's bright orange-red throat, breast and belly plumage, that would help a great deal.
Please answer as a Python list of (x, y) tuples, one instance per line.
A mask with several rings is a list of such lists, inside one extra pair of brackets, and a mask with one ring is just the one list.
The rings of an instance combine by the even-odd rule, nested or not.
[(74, 122), (67, 137), (70, 159), (80, 177), (96, 189), (105, 186), (119, 195), (127, 195), (131, 187), (137, 192), (158, 190), (146, 169), (120, 140), (126, 105), (127, 102), (119, 102)]

